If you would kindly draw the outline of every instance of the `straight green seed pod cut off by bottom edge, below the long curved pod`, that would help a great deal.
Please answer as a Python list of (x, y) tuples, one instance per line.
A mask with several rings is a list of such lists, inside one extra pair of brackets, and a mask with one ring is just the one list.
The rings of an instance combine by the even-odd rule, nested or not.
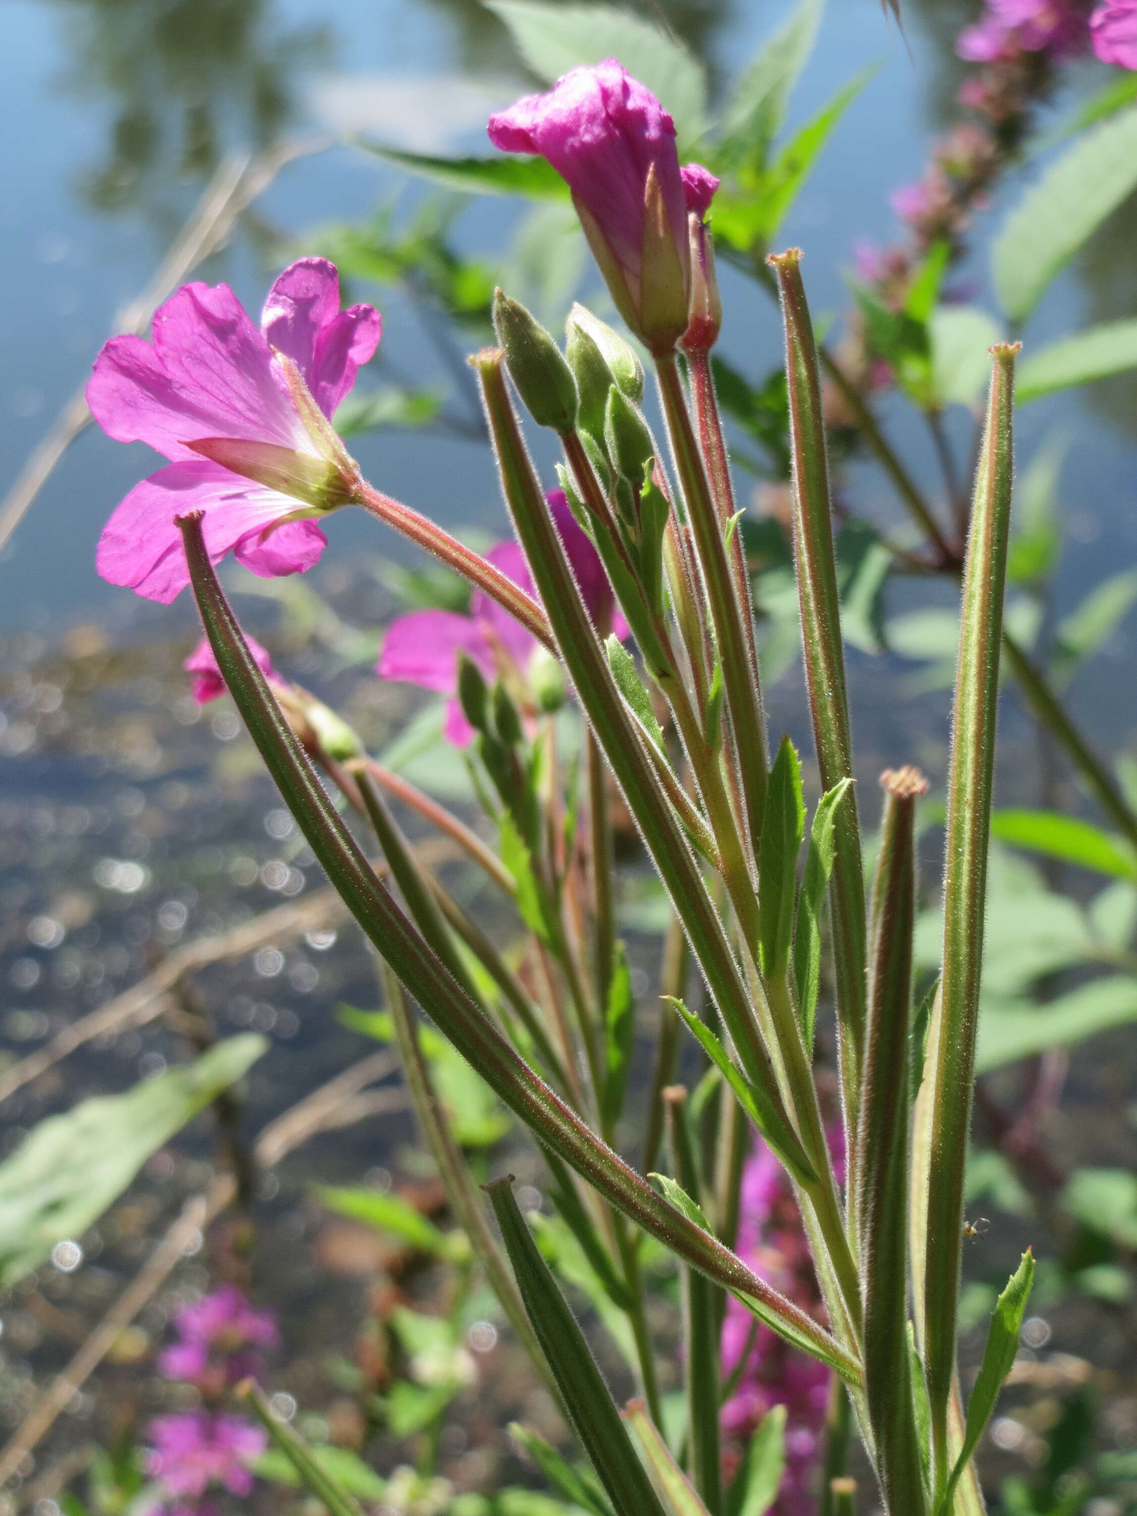
[(664, 1516), (584, 1333), (517, 1208), (512, 1178), (496, 1179), (487, 1189), (529, 1320), (553, 1370), (573, 1430), (617, 1516)]

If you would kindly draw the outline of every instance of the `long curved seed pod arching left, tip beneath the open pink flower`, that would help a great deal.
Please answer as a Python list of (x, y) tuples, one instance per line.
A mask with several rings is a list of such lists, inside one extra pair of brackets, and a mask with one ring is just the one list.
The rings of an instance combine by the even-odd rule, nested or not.
[[(346, 829), (273, 699), (209, 562), (200, 512), (182, 517), (179, 525), (214, 656), (265, 767), (337, 893), (408, 991), (509, 1110), (600, 1195), (664, 1246), (735, 1293), (787, 1340), (805, 1346), (843, 1378), (858, 1383), (860, 1363), (846, 1348), (770, 1289), (729, 1248), (667, 1205), (528, 1067), (446, 972)], [(559, 541), (552, 523), (550, 531)], [(602, 661), (599, 647), (597, 656)]]

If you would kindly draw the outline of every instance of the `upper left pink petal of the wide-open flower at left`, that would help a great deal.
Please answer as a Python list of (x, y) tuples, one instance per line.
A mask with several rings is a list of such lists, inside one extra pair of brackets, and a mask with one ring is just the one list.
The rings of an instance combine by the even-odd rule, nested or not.
[(108, 437), (173, 461), (193, 458), (183, 444), (203, 437), (314, 450), (268, 343), (227, 285), (182, 285), (155, 314), (153, 343), (112, 337), (86, 400)]

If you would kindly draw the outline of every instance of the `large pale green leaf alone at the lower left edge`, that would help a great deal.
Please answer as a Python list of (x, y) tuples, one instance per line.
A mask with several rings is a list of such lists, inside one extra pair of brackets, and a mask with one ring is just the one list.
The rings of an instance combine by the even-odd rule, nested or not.
[(264, 1037), (229, 1037), (185, 1069), (80, 1101), (33, 1126), (0, 1163), (0, 1287), (36, 1269), (56, 1243), (82, 1237), (146, 1160), (267, 1048)]

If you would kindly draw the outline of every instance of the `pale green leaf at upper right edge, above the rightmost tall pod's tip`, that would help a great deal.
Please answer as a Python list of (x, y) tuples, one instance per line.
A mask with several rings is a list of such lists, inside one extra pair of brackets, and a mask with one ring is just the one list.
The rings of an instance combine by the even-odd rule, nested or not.
[(1093, 127), (1004, 221), (991, 252), (1008, 320), (1025, 321), (1055, 274), (1137, 186), (1137, 111)]

